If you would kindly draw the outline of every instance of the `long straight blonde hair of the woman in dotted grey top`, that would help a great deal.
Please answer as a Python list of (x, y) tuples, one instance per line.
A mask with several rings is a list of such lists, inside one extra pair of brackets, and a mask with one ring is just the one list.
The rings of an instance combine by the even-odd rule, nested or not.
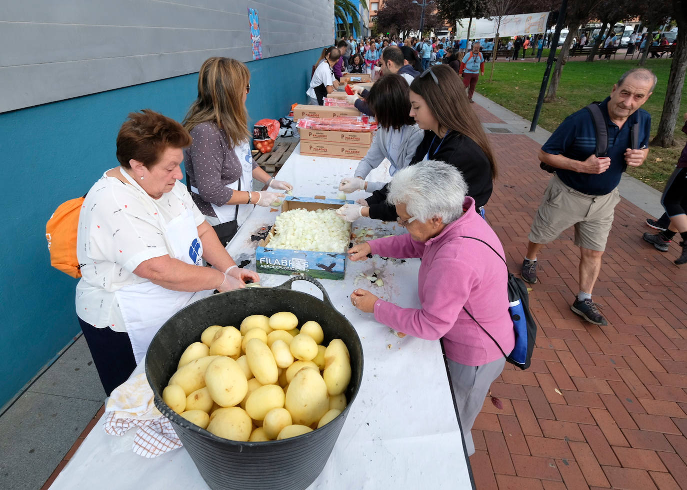
[(212, 121), (232, 145), (248, 139), (248, 111), (243, 95), (251, 78), (246, 65), (232, 58), (207, 58), (198, 73), (198, 97), (183, 119), (188, 131)]

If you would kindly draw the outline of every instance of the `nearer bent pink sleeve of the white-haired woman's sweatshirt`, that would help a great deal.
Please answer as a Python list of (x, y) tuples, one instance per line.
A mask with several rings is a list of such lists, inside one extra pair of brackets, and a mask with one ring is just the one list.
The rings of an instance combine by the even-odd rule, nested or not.
[(420, 281), (422, 307), (403, 308), (388, 301), (374, 303), (374, 318), (396, 331), (437, 340), (455, 326), (473, 284), (479, 278), (458, 259), (435, 259)]

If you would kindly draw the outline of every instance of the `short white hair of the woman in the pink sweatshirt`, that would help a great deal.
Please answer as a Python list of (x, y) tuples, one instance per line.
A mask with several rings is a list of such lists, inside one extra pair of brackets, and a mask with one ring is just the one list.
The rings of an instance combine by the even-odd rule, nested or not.
[(387, 202), (405, 204), (408, 214), (421, 222), (441, 218), (449, 224), (463, 214), (468, 191), (460, 170), (437, 160), (409, 165), (394, 174)]

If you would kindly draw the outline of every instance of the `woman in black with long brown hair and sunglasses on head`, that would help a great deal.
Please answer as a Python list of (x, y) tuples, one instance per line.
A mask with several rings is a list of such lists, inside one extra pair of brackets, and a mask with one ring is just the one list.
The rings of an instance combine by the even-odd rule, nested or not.
[[(453, 165), (468, 184), (475, 211), (484, 217), (484, 205), (491, 197), (497, 169), (491, 145), (470, 106), (462, 80), (448, 65), (435, 65), (410, 84), (409, 100), (410, 115), (425, 130), (410, 165), (423, 160)], [(348, 205), (346, 219), (369, 216), (375, 220), (396, 220), (396, 209), (386, 202), (387, 189), (385, 186), (374, 191), (360, 203), (361, 208)]]

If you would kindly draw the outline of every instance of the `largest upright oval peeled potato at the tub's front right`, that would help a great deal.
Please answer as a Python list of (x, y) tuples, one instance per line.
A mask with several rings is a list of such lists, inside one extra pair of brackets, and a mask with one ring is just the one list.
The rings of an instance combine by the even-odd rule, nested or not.
[(311, 425), (329, 410), (327, 385), (317, 369), (301, 369), (289, 383), (284, 408), (296, 424)]

